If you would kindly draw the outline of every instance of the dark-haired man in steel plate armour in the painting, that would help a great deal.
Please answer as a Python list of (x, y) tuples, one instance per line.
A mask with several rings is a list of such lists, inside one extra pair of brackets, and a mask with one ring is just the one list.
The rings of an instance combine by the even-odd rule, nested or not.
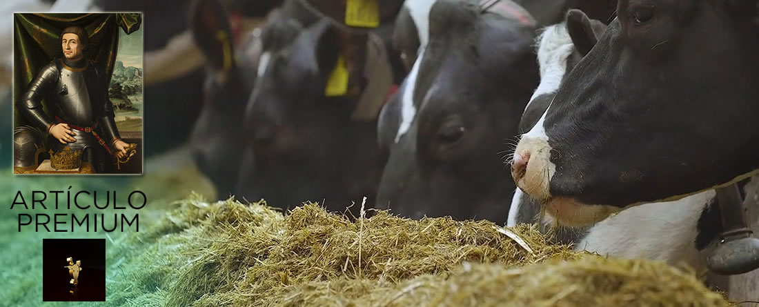
[[(17, 102), (17, 108), (35, 127), (48, 134), (53, 152), (65, 147), (80, 150), (99, 174), (112, 173), (113, 157), (127, 155), (108, 97), (108, 78), (84, 57), (89, 36), (83, 27), (67, 27), (61, 33), (63, 58), (43, 67)], [(43, 111), (47, 99), (54, 118)]]

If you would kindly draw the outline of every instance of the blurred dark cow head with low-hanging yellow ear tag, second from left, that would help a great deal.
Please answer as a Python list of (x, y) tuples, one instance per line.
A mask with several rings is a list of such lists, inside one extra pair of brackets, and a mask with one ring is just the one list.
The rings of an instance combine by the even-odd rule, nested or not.
[(239, 195), (280, 207), (325, 201), (330, 210), (373, 199), (383, 164), (376, 115), (392, 85), (379, 41), (323, 19), (267, 55), (245, 111)]

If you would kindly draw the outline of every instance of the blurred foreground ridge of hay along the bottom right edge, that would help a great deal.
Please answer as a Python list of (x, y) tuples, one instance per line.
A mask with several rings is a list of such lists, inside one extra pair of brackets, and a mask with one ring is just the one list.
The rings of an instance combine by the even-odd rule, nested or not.
[(729, 306), (685, 271), (663, 262), (587, 256), (508, 268), (469, 264), (449, 277), (422, 275), (392, 286), (329, 280), (291, 287), (282, 306)]

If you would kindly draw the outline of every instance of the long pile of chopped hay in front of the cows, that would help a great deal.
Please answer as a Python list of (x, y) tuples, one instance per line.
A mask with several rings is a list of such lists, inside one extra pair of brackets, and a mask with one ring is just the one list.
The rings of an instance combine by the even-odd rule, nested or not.
[(111, 305), (728, 305), (692, 275), (552, 246), (527, 225), (178, 205), (118, 243)]

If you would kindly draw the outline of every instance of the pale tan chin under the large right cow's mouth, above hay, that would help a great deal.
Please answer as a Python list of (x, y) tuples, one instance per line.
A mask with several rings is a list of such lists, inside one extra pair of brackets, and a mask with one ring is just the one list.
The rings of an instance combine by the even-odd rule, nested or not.
[(565, 227), (585, 227), (622, 211), (611, 205), (586, 205), (568, 197), (554, 197), (544, 203), (546, 214)]

